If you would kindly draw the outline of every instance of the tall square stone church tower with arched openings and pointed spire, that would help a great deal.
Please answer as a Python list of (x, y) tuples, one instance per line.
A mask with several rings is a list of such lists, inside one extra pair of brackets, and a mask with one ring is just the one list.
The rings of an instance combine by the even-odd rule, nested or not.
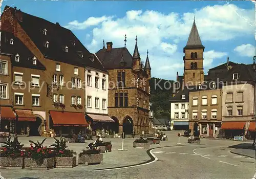
[(195, 19), (183, 52), (185, 53), (185, 56), (183, 57), (184, 85), (202, 84), (204, 81), (204, 46), (201, 42)]

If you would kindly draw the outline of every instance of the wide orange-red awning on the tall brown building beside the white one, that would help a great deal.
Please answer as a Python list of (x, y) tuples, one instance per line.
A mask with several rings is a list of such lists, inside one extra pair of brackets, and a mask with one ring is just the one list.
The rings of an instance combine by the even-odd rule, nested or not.
[(50, 111), (53, 126), (88, 126), (84, 113)]

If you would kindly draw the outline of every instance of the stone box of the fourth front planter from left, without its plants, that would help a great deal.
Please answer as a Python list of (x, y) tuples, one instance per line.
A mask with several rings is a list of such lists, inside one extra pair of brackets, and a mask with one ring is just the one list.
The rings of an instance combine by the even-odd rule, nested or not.
[(89, 165), (89, 164), (103, 164), (103, 154), (84, 154), (79, 156), (78, 164)]

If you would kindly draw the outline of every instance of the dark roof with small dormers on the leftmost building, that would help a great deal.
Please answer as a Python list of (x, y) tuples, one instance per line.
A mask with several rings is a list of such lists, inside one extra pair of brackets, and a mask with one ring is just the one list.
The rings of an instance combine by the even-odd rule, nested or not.
[[(10, 44), (10, 39), (13, 39), (13, 44)], [(1, 51), (12, 54), (11, 62), (13, 66), (20, 66), (29, 69), (46, 70), (45, 66), (37, 59), (36, 64), (33, 64), (34, 55), (18, 38), (12, 33), (2, 31), (1, 33)], [(16, 54), (19, 55), (19, 62), (15, 61)]]

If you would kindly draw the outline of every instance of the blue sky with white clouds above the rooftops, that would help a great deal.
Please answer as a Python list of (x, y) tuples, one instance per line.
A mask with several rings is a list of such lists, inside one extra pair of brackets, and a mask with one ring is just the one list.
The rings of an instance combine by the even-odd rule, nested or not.
[(96, 53), (103, 39), (133, 54), (137, 35), (141, 60), (146, 52), (152, 76), (176, 80), (183, 75), (183, 48), (194, 16), (204, 50), (204, 73), (229, 60), (252, 63), (255, 54), (255, 7), (252, 1), (25, 1), (4, 0), (4, 7), (44, 18), (72, 30)]

